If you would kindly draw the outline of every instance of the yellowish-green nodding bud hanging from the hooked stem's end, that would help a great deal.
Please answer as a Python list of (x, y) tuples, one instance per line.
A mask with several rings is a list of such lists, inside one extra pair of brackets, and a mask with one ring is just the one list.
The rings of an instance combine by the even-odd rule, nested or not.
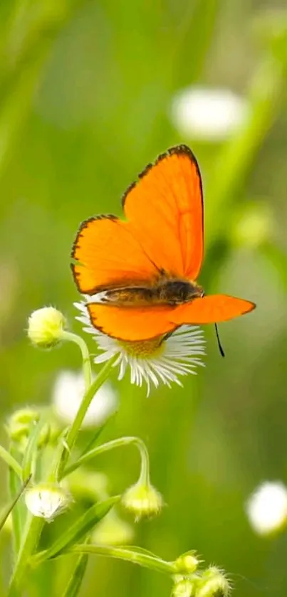
[(135, 520), (160, 514), (162, 496), (150, 483), (138, 481), (129, 487), (122, 496), (122, 505), (135, 515)]

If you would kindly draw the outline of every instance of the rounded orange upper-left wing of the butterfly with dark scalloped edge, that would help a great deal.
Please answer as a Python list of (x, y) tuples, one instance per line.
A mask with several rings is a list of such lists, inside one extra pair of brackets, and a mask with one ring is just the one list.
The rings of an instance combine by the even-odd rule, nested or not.
[(78, 290), (89, 295), (117, 285), (152, 282), (159, 275), (128, 223), (115, 216), (98, 216), (83, 222), (72, 258)]

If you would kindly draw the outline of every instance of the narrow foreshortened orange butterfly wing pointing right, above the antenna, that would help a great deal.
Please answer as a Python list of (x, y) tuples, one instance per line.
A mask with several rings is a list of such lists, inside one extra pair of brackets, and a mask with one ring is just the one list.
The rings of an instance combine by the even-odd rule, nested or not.
[(172, 313), (174, 324), (204, 324), (226, 322), (255, 309), (254, 302), (229, 295), (210, 295), (180, 305)]

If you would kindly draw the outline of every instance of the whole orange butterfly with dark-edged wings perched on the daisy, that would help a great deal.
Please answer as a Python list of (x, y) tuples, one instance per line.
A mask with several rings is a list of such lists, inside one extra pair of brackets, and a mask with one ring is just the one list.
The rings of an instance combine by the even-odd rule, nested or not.
[(202, 180), (186, 145), (149, 164), (122, 198), (125, 221), (84, 221), (72, 250), (73, 277), (88, 296), (93, 326), (124, 341), (169, 334), (183, 324), (223, 322), (253, 302), (204, 296)]

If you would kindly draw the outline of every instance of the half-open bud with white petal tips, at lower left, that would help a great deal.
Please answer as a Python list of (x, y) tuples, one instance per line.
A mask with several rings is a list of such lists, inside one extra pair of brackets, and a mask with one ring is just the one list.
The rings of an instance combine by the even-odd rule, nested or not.
[(25, 503), (33, 516), (53, 522), (71, 504), (71, 495), (58, 485), (40, 483), (26, 491)]

